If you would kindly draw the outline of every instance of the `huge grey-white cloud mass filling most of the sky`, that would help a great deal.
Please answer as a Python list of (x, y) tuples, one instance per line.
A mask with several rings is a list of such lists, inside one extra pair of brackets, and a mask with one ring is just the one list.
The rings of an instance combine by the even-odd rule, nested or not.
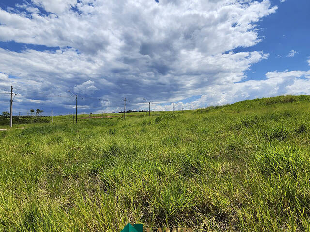
[[(3, 85), (45, 93), (24, 92), (16, 107), (27, 109), (35, 100), (72, 109), (75, 102), (58, 95), (73, 89), (84, 96), (83, 109), (92, 111), (114, 111), (123, 97), (131, 108), (144, 107), (143, 98), (160, 108), (242, 86), (235, 83), (269, 54), (233, 49), (259, 43), (256, 23), (277, 10), (270, 0), (32, 0), (16, 6), (0, 8), (0, 41), (46, 46), (0, 48), (0, 73), (16, 77)], [(243, 92), (233, 96), (251, 96)], [(109, 104), (87, 99), (93, 95)]]

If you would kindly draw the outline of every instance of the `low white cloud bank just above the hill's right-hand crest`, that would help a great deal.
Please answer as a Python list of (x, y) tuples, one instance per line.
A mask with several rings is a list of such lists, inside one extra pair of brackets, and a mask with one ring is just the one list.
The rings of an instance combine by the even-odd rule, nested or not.
[[(266, 73), (265, 80), (250, 80), (234, 83), (230, 86), (215, 85), (209, 87), (201, 98), (189, 102), (178, 103), (178, 109), (202, 108), (210, 105), (230, 104), (244, 99), (255, 99), (285, 94), (309, 94), (309, 71), (273, 71)], [(207, 104), (206, 104), (207, 102)], [(172, 105), (159, 106), (161, 110), (171, 110)]]

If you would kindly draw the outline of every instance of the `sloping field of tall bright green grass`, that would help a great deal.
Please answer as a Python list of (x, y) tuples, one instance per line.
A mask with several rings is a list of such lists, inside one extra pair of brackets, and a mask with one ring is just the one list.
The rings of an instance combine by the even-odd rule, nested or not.
[(310, 96), (153, 114), (0, 131), (0, 231), (310, 231)]

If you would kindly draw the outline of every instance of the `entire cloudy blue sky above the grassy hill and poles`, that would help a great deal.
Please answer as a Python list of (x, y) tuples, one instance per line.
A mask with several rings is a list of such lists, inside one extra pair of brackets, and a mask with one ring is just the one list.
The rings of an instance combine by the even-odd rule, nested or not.
[(0, 111), (189, 109), (310, 94), (309, 0), (2, 0)]

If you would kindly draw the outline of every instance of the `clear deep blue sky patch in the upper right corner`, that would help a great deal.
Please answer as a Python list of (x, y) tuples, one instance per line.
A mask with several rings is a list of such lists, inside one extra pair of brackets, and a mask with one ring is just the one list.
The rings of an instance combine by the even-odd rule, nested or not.
[[(264, 18), (258, 28), (262, 42), (251, 47), (270, 54), (267, 60), (256, 63), (247, 71), (248, 79), (260, 79), (267, 72), (278, 70), (309, 70), (307, 60), (310, 54), (310, 1), (272, 1), (278, 5), (276, 14)], [(248, 48), (236, 49), (246, 51)], [(289, 51), (297, 51), (294, 57), (287, 57)], [(255, 72), (255, 73), (253, 73)]]

